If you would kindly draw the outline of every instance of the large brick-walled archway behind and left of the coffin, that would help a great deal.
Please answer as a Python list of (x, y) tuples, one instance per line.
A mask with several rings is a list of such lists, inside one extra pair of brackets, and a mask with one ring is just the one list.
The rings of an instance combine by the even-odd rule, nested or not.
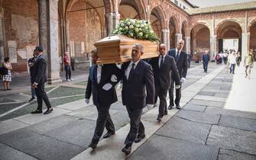
[(105, 4), (103, 0), (71, 0), (66, 9), (70, 56), (86, 57), (95, 49), (94, 43), (105, 35)]

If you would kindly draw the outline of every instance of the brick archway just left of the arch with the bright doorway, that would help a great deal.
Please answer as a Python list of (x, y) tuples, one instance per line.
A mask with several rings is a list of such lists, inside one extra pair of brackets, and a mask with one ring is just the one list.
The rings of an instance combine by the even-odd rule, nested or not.
[(210, 49), (210, 31), (205, 24), (196, 24), (190, 33), (190, 50), (193, 59), (199, 60), (204, 50)]

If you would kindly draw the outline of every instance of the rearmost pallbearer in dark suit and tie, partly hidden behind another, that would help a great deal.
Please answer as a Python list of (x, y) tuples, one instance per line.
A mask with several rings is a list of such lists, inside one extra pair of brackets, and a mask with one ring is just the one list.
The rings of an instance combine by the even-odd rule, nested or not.
[[(179, 71), (181, 83), (186, 81), (186, 72), (187, 72), (187, 56), (186, 56), (186, 53), (182, 50), (183, 46), (184, 46), (184, 40), (181, 39), (181, 40), (177, 41), (176, 49), (172, 49), (172, 50), (168, 51), (168, 55), (172, 56), (176, 62), (176, 66)], [(169, 97), (170, 97), (170, 105), (168, 107), (169, 110), (171, 110), (174, 106), (174, 103), (173, 103), (173, 88), (174, 88), (173, 76), (174, 75), (172, 73), (171, 84), (170, 84), (170, 89), (169, 89)], [(176, 104), (177, 109), (181, 108), (180, 107), (180, 98), (181, 98), (181, 87), (176, 88), (175, 104)]]

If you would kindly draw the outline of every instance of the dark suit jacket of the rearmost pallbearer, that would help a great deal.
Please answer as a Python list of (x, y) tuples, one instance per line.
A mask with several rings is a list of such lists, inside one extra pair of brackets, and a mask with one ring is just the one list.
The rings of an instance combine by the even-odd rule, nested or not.
[[(173, 59), (175, 59), (176, 49), (169, 50), (167, 54), (169, 56), (172, 56)], [(178, 68), (180, 78), (182, 77), (186, 78), (188, 64), (187, 64), (186, 53), (183, 50), (180, 52), (180, 56), (179, 56), (179, 59), (177, 59), (176, 66)], [(172, 77), (173, 77), (173, 74), (172, 74)]]

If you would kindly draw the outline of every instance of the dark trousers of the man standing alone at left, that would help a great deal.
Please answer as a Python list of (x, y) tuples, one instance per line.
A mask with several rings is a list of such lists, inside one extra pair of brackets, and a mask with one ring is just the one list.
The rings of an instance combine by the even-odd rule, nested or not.
[(42, 110), (43, 100), (47, 106), (47, 109), (50, 109), (51, 105), (50, 105), (48, 96), (47, 96), (46, 92), (44, 91), (44, 84), (38, 84), (37, 88), (35, 88), (35, 91), (36, 91), (36, 95), (37, 95), (37, 104), (38, 104), (37, 110)]

